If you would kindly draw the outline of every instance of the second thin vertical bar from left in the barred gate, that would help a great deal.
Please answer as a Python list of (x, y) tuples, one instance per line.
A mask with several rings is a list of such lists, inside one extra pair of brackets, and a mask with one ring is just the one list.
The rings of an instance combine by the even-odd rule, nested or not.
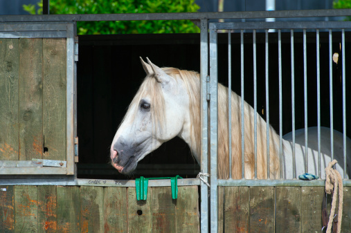
[(242, 178), (245, 178), (244, 30), (240, 30), (240, 60), (240, 75), (242, 88)]

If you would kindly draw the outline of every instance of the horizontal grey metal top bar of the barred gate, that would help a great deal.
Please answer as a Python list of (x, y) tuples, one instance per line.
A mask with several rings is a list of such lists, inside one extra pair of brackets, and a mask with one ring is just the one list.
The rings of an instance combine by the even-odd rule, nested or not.
[(275, 22), (227, 22), (217, 23), (218, 30), (255, 30), (255, 29), (330, 29), (350, 28), (347, 21), (275, 21)]

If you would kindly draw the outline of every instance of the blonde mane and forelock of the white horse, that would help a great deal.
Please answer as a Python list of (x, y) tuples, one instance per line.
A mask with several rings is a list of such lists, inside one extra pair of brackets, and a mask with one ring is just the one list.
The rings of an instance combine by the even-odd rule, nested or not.
[[(200, 111), (200, 78), (199, 73), (194, 71), (182, 71), (178, 68), (162, 68), (166, 74), (174, 77), (175, 80), (181, 79), (186, 84), (190, 103), (190, 120), (192, 129), (190, 149), (200, 155), (201, 124)], [(136, 93), (132, 103), (129, 105), (125, 119), (129, 114), (136, 117), (135, 109), (141, 98), (149, 94), (151, 99), (152, 123), (154, 130), (160, 133), (165, 125), (164, 100), (161, 94), (161, 85), (158, 84), (154, 75), (147, 75), (143, 84)], [(232, 91), (231, 95), (231, 126), (232, 126), (232, 177), (242, 178), (242, 136), (241, 136), (241, 97)], [(244, 103), (244, 165), (245, 178), (254, 178), (254, 120), (253, 108)], [(134, 119), (132, 118), (132, 119)], [(257, 176), (259, 179), (267, 178), (267, 123), (257, 115)], [(270, 178), (278, 178), (279, 171), (279, 137), (272, 127), (269, 128), (269, 151), (270, 151)], [(218, 84), (218, 178), (227, 179), (229, 177), (229, 158), (228, 158), (228, 88)]]

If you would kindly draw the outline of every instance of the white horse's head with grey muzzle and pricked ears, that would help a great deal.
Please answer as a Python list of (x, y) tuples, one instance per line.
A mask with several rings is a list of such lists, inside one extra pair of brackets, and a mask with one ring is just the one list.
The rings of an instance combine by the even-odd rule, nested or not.
[[(189, 96), (176, 68), (159, 68), (141, 59), (146, 77), (111, 145), (111, 163), (123, 174), (175, 136), (190, 138)], [(188, 127), (184, 127), (188, 126)], [(188, 139), (190, 140), (190, 139)]]

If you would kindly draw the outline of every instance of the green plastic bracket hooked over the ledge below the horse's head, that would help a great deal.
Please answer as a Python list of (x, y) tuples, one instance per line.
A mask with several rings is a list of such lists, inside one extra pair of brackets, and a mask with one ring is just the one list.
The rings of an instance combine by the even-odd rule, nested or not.
[[(172, 189), (172, 199), (178, 198), (178, 178), (181, 176), (174, 177), (160, 177), (160, 178), (144, 178), (141, 176), (140, 178), (135, 179), (135, 187), (136, 187), (136, 200), (146, 200), (147, 197), (147, 185), (149, 184), (149, 180), (165, 180), (170, 179), (170, 187)], [(181, 178), (182, 179), (182, 178)]]

